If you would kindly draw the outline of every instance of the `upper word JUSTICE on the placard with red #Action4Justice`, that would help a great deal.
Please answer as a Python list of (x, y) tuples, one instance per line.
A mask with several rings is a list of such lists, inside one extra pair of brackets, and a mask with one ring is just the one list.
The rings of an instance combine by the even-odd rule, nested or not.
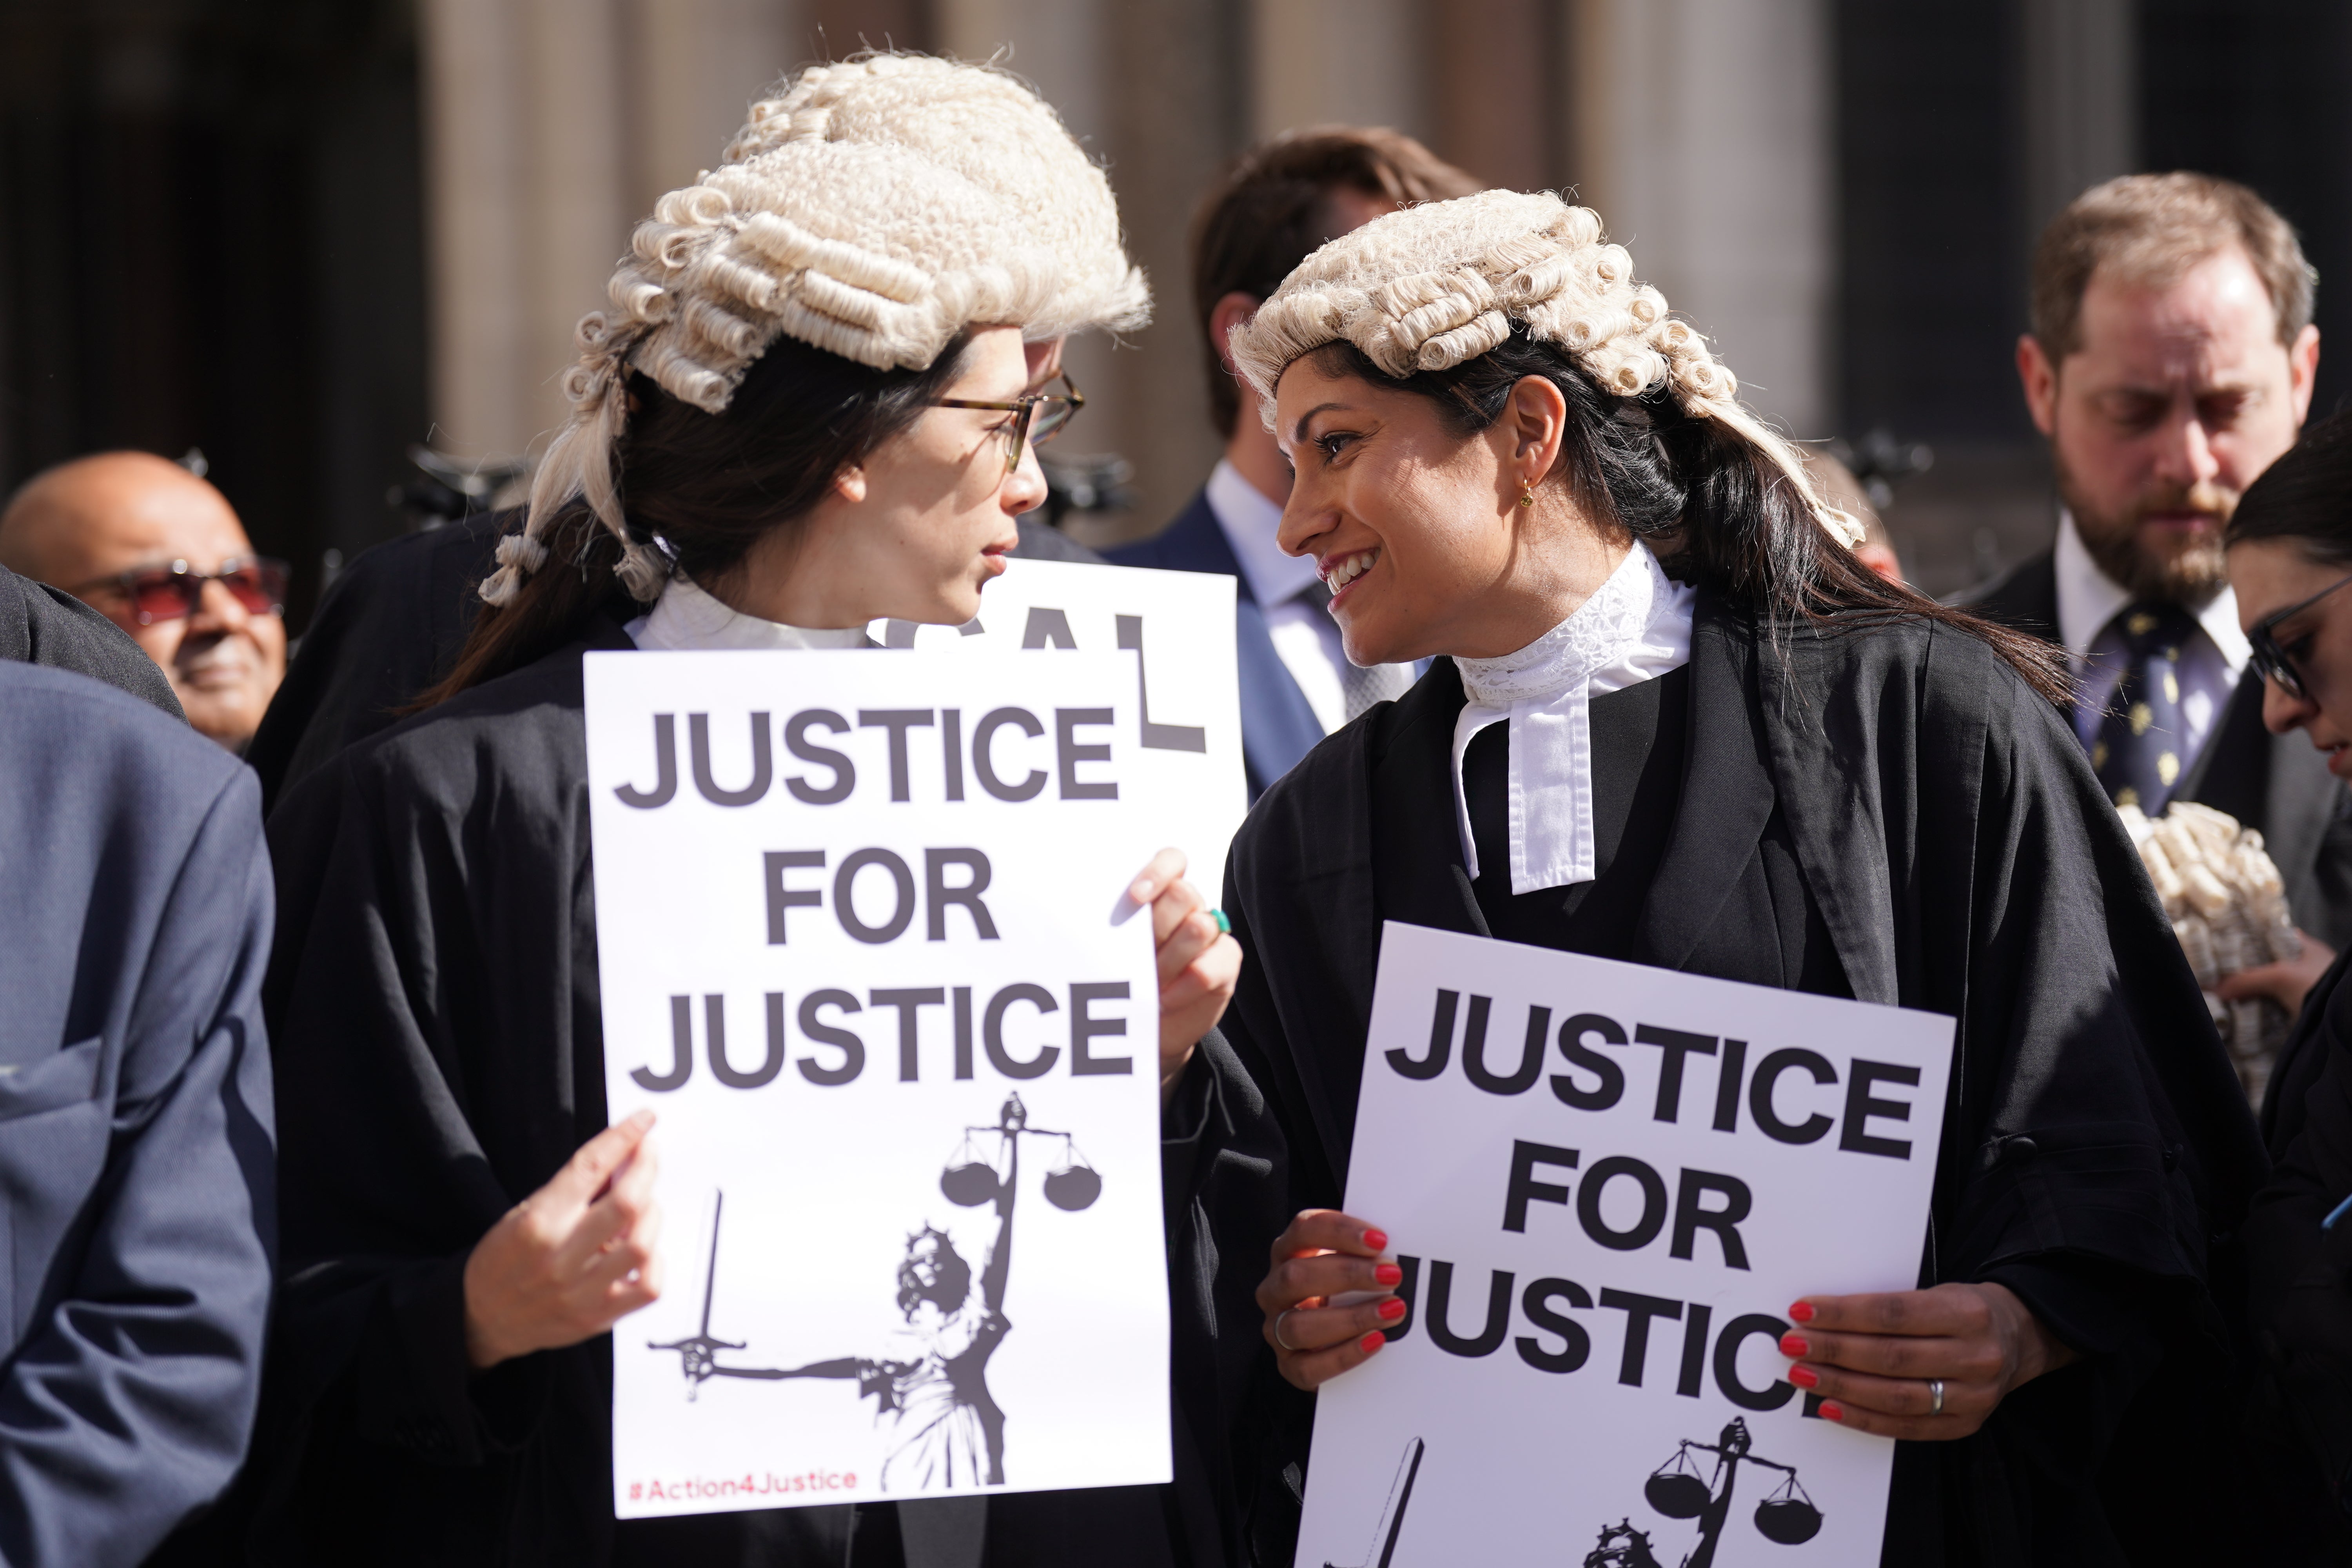
[[(786, 792), (804, 806), (837, 806), (856, 792), (858, 764), (849, 750), (837, 750), (826, 741), (875, 729), (887, 736), (889, 797), (906, 804), (915, 799), (913, 733), (931, 731), (938, 752), (938, 799), (967, 799), (967, 776), (990, 799), (1014, 804), (1037, 799), (1047, 785), (1054, 785), (1056, 799), (1120, 799), (1117, 780), (1101, 773), (1101, 766), (1110, 762), (1110, 743), (1082, 733), (1110, 724), (1110, 708), (1056, 708), (1054, 741), (1047, 750), (1040, 745), (1047, 738), (1047, 722), (1028, 708), (990, 708), (971, 724), (969, 738), (962, 708), (861, 708), (856, 724), (830, 708), (804, 708), (788, 715), (781, 726), (774, 715), (755, 712), (748, 717), (750, 762), (739, 776), (741, 783), (722, 783), (710, 757), (710, 715), (689, 712), (687, 766), (696, 795), (713, 806), (753, 806), (767, 799), (776, 785), (774, 741), (781, 729), (783, 750), (816, 769), (783, 778)], [(1051, 766), (1037, 766), (1040, 762)], [(623, 806), (659, 811), (677, 799), (677, 715), (656, 712), (654, 783), (649, 788), (626, 783), (614, 788), (614, 795)]]

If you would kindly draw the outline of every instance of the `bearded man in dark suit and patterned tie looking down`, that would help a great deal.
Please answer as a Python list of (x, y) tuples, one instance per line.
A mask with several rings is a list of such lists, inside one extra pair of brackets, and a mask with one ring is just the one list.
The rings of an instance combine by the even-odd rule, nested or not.
[(2263, 830), (2317, 940), (2225, 994), (2288, 1011), (2352, 940), (2352, 818), (2319, 752), (2263, 729), (2220, 534), (2310, 411), (2312, 289), (2296, 230), (2232, 181), (2133, 174), (2051, 219), (2018, 376), (2058, 541), (1973, 602), (2065, 646), (2074, 733), (2117, 804), (2194, 799)]

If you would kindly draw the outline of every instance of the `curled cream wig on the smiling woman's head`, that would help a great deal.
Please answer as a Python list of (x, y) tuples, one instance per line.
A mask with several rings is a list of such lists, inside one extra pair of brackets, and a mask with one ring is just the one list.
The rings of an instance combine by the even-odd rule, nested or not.
[(1374, 219), (1298, 263), (1232, 334), (1232, 362), (1272, 428), (1275, 383), (1303, 355), (1352, 343), (1404, 381), (1451, 371), (1519, 336), (1564, 350), (1625, 400), (1672, 397), (1752, 447), (1844, 545), (1863, 529), (1825, 505), (1804, 458), (1738, 402), (1738, 381), (1665, 296), (1635, 282), (1632, 256), (1602, 221), (1550, 193), (1484, 190)]

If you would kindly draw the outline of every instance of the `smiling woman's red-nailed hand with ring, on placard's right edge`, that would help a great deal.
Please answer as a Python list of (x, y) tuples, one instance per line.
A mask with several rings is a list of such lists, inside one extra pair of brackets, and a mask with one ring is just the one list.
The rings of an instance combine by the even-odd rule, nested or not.
[(1788, 1380), (1828, 1420), (1915, 1443), (1969, 1436), (2011, 1389), (2074, 1361), (2009, 1286), (1809, 1295), (1788, 1314)]

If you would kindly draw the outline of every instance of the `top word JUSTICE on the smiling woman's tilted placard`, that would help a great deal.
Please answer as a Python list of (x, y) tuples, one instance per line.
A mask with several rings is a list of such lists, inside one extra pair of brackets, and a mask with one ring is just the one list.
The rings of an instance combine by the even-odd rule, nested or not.
[[(1411, 1051), (1388, 1051), (1388, 1065), (1406, 1079), (1425, 1081), (1444, 1074), (1454, 1056), (1456, 1016), (1468, 1013), (1461, 1027), (1463, 1077), (1486, 1093), (1526, 1093), (1543, 1077), (1543, 1065), (1555, 1044), (1552, 1009), (1526, 1009), (1526, 1034), (1519, 1046), (1519, 1060), (1503, 1070), (1496, 1070), (1486, 1058), (1486, 1016), (1491, 1009), (1491, 997), (1470, 997), (1470, 1006), (1463, 1009), (1458, 992), (1439, 990), (1430, 1020), (1428, 1053), (1416, 1058)], [(1625, 1063), (1595, 1046), (1656, 1046), (1661, 1053), (1658, 1100), (1651, 1112), (1656, 1121), (1682, 1119), (1684, 1065), (1693, 1056), (1703, 1056), (1715, 1058), (1717, 1067), (1712, 1103), (1703, 1103), (1700, 1114), (1712, 1117), (1710, 1126), (1717, 1133), (1738, 1133), (1740, 1112), (1745, 1110), (1755, 1131), (1773, 1143), (1820, 1143), (1835, 1131), (1837, 1147), (1846, 1154), (1910, 1159), (1912, 1152), (1910, 1140), (1886, 1138), (1870, 1128), (1872, 1121), (1910, 1121), (1910, 1100), (1882, 1093), (1886, 1084), (1919, 1086), (1919, 1070), (1903, 1063), (1853, 1058), (1846, 1063), (1844, 1093), (1832, 1098), (1839, 1114), (1832, 1117), (1823, 1110), (1802, 1107), (1792, 1119), (1783, 1114), (1785, 1093), (1802, 1093), (1806, 1084), (1813, 1091), (1835, 1088), (1839, 1081), (1837, 1065), (1820, 1051), (1804, 1046), (1766, 1051), (1755, 1063), (1755, 1070), (1750, 1070), (1745, 1039), (1665, 1030), (1649, 1023), (1635, 1025), (1628, 1034), (1625, 1025), (1602, 1013), (1573, 1013), (1559, 1025), (1557, 1046), (1569, 1072), (1552, 1074), (1550, 1091), (1562, 1105), (1573, 1110), (1613, 1110), (1625, 1098)], [(1740, 1093), (1743, 1088), (1745, 1095)]]

